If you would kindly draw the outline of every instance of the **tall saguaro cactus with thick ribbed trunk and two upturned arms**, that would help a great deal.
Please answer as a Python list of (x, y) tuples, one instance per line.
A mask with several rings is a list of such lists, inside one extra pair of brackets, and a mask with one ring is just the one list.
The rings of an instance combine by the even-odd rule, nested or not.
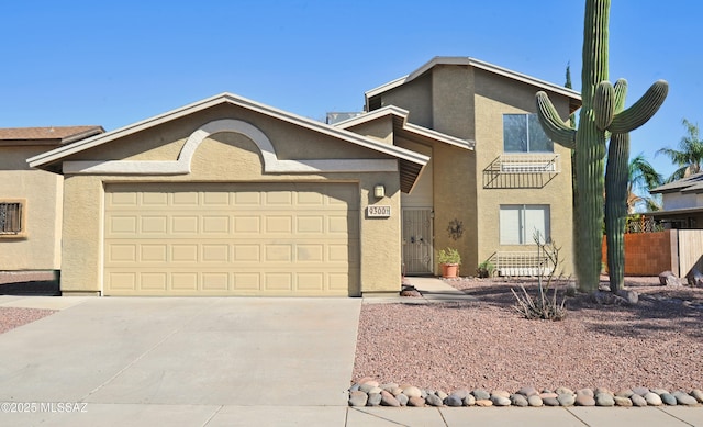
[[(603, 239), (605, 142), (609, 133), (627, 134), (659, 109), (668, 85), (657, 81), (629, 109), (616, 111), (615, 89), (607, 81), (610, 0), (587, 0), (579, 126), (566, 124), (545, 92), (537, 93), (537, 113), (545, 133), (557, 144), (576, 148), (577, 221), (573, 224), (576, 273), (581, 291), (598, 289)], [(623, 95), (624, 98), (624, 95)], [(627, 160), (625, 160), (627, 161)]]

